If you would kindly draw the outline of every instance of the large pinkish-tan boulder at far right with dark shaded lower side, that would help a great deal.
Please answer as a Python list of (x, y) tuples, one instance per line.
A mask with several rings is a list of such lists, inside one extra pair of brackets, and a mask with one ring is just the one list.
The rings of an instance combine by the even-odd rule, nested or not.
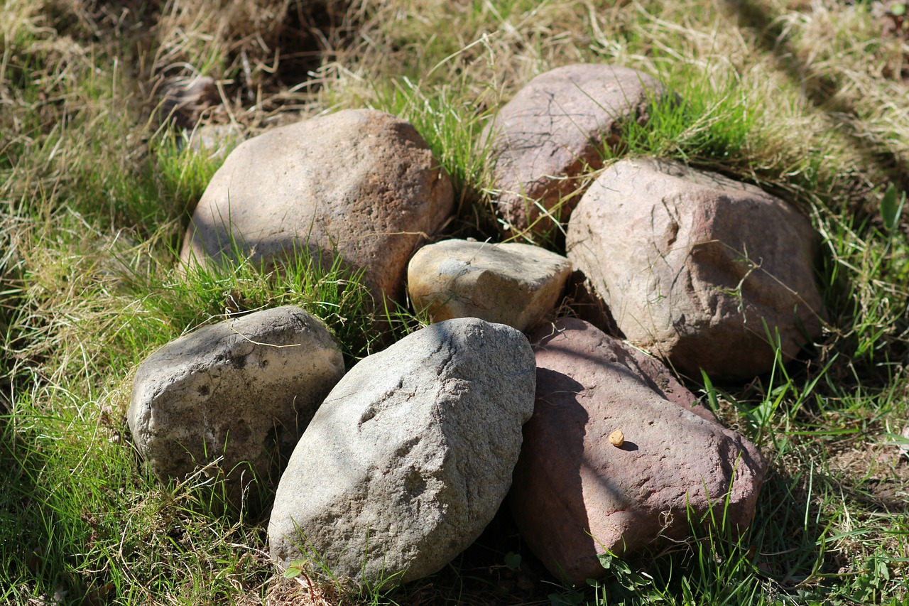
[(624, 337), (700, 378), (752, 379), (820, 334), (814, 230), (759, 187), (653, 158), (604, 170), (567, 256)]

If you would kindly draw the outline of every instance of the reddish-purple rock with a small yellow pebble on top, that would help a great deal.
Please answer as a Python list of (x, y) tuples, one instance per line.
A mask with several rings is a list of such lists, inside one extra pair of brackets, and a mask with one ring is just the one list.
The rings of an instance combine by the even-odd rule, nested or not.
[[(686, 504), (701, 515), (729, 494), (744, 527), (764, 480), (754, 445), (700, 406), (657, 362), (583, 320), (534, 334), (534, 416), (508, 500), (521, 536), (555, 576), (602, 577), (597, 554), (683, 537)], [(619, 429), (624, 443), (608, 437)], [(591, 536), (592, 535), (592, 536)], [(592, 538), (593, 537), (593, 538)]]

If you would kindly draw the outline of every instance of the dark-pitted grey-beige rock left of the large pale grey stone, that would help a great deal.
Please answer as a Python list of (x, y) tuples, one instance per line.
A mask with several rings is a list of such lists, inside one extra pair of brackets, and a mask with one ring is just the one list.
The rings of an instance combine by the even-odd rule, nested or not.
[(300, 308), (266, 309), (199, 328), (145, 359), (135, 375), (129, 429), (162, 478), (182, 478), (224, 455), (219, 467), (238, 502), (250, 474), (236, 466), (248, 462), (276, 483), (344, 372), (321, 320)]

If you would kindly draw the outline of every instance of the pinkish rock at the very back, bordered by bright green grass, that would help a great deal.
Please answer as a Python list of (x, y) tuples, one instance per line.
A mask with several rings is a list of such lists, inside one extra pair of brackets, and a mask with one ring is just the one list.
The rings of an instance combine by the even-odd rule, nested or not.
[[(494, 158), (499, 209), (514, 230), (552, 227), (540, 216), (558, 211), (565, 223), (581, 186), (579, 176), (603, 166), (604, 146), (614, 146), (629, 118), (645, 120), (663, 86), (627, 67), (579, 64), (536, 76), (484, 129), (481, 146)], [(535, 223), (535, 225), (534, 225)]]

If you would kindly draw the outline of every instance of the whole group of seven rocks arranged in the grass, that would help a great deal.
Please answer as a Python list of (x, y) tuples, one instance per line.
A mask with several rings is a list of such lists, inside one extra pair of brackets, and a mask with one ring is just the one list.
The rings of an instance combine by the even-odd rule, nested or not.
[[(602, 576), (606, 550), (684, 536), (689, 515), (724, 507), (747, 526), (760, 452), (644, 349), (694, 378), (792, 359), (820, 330), (814, 236), (783, 200), (677, 162), (624, 159), (578, 191), (665, 97), (633, 70), (567, 66), (484, 132), (509, 229), (560, 222), (567, 257), (442, 238), (451, 184), (394, 116), (344, 111), (238, 146), (195, 209), (184, 269), (340, 258), (376, 303), (409, 292), (429, 325), (346, 374), (299, 308), (177, 339), (135, 379), (128, 419), (148, 465), (165, 479), (217, 465), (237, 502), (253, 477), (276, 485), (275, 561), (373, 585), (439, 571), (506, 501), (573, 583)], [(555, 319), (573, 271), (621, 335)]]

